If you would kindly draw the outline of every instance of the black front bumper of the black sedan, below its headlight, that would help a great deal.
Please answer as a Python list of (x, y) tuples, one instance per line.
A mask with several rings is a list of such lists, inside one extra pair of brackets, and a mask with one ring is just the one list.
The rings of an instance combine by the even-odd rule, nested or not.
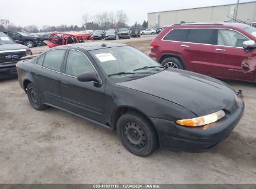
[(162, 149), (204, 152), (222, 143), (244, 113), (244, 101), (237, 97), (226, 109), (224, 118), (202, 127), (183, 127), (173, 121), (151, 118)]

